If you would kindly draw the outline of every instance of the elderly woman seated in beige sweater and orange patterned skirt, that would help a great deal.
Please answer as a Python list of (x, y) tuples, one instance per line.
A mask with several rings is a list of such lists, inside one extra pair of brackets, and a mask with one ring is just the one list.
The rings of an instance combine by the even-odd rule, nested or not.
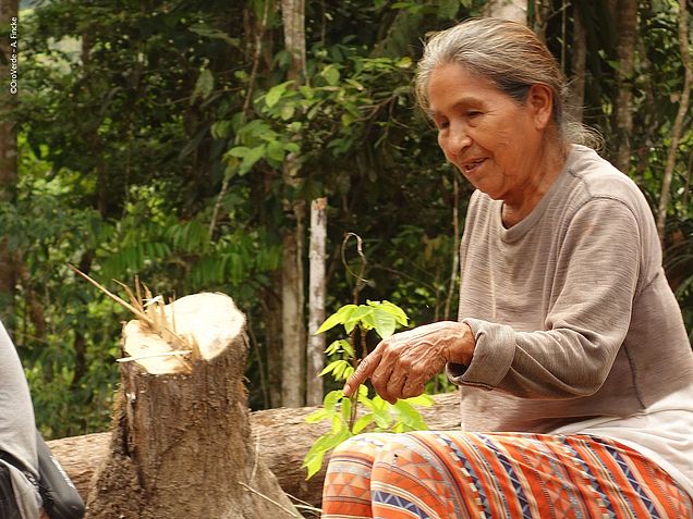
[(418, 395), (445, 369), (461, 432), (364, 434), (328, 467), (325, 518), (693, 517), (693, 354), (637, 187), (567, 122), (522, 25), (437, 34), (420, 101), (476, 188), (459, 322), (382, 341), (348, 381)]

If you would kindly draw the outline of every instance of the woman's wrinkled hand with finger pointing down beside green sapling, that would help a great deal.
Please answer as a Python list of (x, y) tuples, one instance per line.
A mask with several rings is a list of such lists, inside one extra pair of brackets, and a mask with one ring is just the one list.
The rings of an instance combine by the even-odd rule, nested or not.
[(344, 385), (351, 396), (366, 379), (384, 400), (394, 404), (424, 393), (424, 384), (447, 362), (469, 364), (474, 336), (467, 324), (443, 321), (396, 333), (361, 361)]

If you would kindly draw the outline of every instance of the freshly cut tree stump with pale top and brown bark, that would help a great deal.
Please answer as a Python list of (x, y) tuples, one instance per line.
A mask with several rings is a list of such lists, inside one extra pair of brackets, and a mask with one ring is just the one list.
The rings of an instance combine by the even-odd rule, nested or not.
[[(160, 306), (163, 332), (123, 329), (109, 454), (87, 519), (255, 519), (299, 516), (252, 440), (243, 385), (245, 318), (222, 294)], [(160, 332), (160, 331), (159, 331)]]

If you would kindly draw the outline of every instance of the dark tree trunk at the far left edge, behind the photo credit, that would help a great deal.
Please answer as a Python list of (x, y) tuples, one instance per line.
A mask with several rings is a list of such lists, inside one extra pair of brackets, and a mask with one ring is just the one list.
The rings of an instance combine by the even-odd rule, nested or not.
[[(0, 94), (0, 202), (12, 203), (16, 196), (17, 147), (16, 133), (12, 115), (19, 92), (19, 13), (17, 0), (0, 0), (0, 25), (9, 27), (9, 35), (0, 38), (0, 76), (3, 89)], [(7, 236), (0, 239), (0, 317), (12, 331), (10, 323), (14, 319), (14, 292), (16, 284), (16, 259), (8, 247)]]

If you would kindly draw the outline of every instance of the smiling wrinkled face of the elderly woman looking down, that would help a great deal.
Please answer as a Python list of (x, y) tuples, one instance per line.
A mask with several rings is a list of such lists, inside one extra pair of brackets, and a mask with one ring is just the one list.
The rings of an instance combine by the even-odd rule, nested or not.
[(532, 102), (519, 104), (458, 63), (434, 70), (428, 102), (438, 144), (466, 180), (494, 199), (521, 199), (544, 129)]

